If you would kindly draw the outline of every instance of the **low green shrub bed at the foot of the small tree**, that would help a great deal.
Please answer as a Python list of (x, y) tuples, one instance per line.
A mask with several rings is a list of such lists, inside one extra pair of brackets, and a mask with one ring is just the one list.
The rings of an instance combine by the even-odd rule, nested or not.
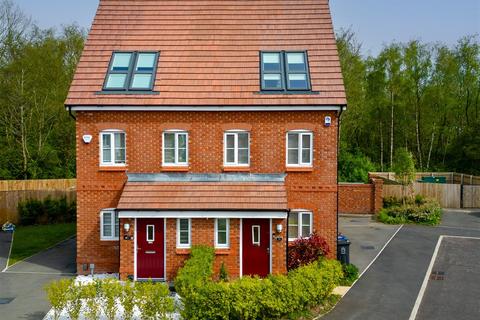
[(407, 198), (403, 201), (389, 199), (387, 204), (377, 217), (378, 221), (383, 223), (437, 225), (442, 218), (440, 204), (434, 199), (422, 197)]

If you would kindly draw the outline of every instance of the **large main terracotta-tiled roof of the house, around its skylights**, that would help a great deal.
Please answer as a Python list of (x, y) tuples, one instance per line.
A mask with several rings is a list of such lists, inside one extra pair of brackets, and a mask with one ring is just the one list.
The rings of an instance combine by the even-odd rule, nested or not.
[[(114, 50), (160, 51), (159, 94), (98, 94)], [(260, 50), (308, 50), (315, 94), (259, 94)], [(328, 0), (101, 0), (66, 105), (345, 105)]]

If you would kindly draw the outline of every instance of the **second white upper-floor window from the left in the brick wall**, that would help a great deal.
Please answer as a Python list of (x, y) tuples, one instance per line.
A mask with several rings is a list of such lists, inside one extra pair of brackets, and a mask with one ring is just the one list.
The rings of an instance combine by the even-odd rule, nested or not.
[(188, 132), (169, 130), (163, 133), (162, 163), (164, 166), (188, 165)]

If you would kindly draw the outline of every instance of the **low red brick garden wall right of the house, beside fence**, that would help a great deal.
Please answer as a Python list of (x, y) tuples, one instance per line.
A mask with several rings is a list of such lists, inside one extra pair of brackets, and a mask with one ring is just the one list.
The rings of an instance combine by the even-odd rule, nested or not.
[(338, 211), (340, 213), (374, 214), (382, 208), (383, 180), (371, 179), (369, 184), (340, 183)]

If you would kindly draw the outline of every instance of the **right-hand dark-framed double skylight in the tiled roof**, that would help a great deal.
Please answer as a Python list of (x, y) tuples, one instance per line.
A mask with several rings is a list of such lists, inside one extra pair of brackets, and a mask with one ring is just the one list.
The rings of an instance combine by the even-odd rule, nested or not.
[(261, 52), (262, 91), (310, 91), (306, 51)]

